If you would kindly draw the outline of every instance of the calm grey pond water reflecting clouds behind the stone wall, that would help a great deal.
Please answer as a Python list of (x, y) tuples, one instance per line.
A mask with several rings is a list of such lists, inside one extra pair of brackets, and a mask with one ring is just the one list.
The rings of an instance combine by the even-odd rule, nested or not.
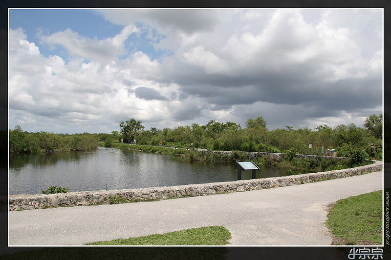
[[(242, 180), (251, 179), (242, 172)], [(285, 176), (261, 168), (257, 178)], [(39, 194), (48, 186), (68, 192), (132, 189), (237, 180), (230, 163), (186, 161), (171, 155), (98, 147), (81, 152), (10, 155), (9, 194)]]

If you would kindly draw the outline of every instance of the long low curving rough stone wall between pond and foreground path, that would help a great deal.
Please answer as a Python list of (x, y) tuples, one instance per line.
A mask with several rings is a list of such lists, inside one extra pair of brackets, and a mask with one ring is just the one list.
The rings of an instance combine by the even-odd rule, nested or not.
[(285, 177), (273, 177), (253, 180), (237, 180), (191, 184), (183, 186), (155, 187), (141, 189), (124, 189), (108, 191), (69, 192), (60, 194), (37, 195), (10, 195), (9, 210), (41, 209), (65, 206), (86, 206), (109, 204), (116, 202), (137, 202), (150, 200), (166, 200), (181, 197), (204, 196), (219, 193), (230, 193), (248, 190), (282, 187), (303, 184), (321, 180), (331, 180), (355, 175), (361, 175), (383, 168), (383, 162), (375, 161), (372, 164), (356, 168), (307, 173)]

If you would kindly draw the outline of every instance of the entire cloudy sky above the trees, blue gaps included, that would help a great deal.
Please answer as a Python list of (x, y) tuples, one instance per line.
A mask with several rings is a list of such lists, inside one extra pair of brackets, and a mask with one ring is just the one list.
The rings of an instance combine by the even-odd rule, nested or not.
[(9, 128), (110, 133), (383, 109), (383, 9), (9, 9)]

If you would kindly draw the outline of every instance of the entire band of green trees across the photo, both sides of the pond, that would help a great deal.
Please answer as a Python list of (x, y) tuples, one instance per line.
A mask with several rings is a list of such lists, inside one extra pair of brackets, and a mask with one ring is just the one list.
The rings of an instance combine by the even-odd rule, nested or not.
[[(385, 117), (385, 120), (390, 120)], [(340, 124), (329, 127), (326, 124), (314, 129), (291, 126), (268, 130), (262, 116), (248, 119), (244, 127), (235, 122), (217, 122), (209, 120), (207, 124), (192, 123), (191, 126), (145, 130), (140, 120), (130, 118), (119, 122), (119, 131), (111, 134), (55, 134), (48, 132), (22, 131), (20, 126), (9, 130), (9, 151), (13, 154), (77, 151), (96, 149), (98, 141), (120, 141), (157, 145), (189, 147), (225, 151), (253, 151), (273, 153), (296, 153), (321, 155), (322, 146), (326, 149), (336, 149), (337, 156), (350, 157), (356, 151), (369, 153), (369, 146), (376, 146), (377, 160), (382, 159), (382, 126), (383, 115), (370, 115), (363, 127), (354, 123)], [(386, 131), (386, 135), (389, 131)], [(309, 144), (312, 144), (310, 151)]]

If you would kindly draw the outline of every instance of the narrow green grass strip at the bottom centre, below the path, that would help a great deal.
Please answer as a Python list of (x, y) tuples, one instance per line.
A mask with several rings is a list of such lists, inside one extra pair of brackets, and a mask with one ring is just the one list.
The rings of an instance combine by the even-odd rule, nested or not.
[(191, 228), (146, 237), (98, 241), (84, 245), (226, 245), (231, 233), (223, 226)]

